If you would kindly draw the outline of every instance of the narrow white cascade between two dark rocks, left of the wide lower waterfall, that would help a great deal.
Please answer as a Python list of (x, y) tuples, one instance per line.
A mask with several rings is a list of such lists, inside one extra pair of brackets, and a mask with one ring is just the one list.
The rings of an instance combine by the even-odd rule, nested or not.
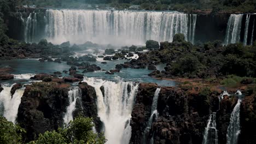
[(67, 111), (63, 117), (64, 123), (68, 124), (70, 121), (73, 121), (73, 112), (75, 110), (75, 104), (77, 103), (77, 99), (81, 98), (82, 92), (79, 87), (75, 87), (68, 91), (68, 101), (69, 105), (67, 107)]

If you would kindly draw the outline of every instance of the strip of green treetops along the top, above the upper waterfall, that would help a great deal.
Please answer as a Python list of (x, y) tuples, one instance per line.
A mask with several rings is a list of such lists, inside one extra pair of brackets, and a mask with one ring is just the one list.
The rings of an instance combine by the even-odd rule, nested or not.
[[(57, 8), (104, 8), (115, 7), (127, 9), (131, 5), (139, 5), (145, 10), (204, 10), (212, 9), (217, 11), (247, 12), (253, 13), (256, 9), (254, 0), (22, 0), (22, 4), (35, 4), (37, 7), (57, 7)], [(88, 4), (91, 4), (90, 7)], [(97, 5), (95, 5), (97, 4)]]

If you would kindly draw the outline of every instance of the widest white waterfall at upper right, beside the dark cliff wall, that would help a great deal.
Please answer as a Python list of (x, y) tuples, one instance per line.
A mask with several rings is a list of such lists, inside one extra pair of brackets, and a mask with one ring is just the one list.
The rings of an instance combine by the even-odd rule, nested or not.
[(243, 14), (231, 14), (226, 28), (225, 44), (234, 44), (240, 41), (240, 32)]

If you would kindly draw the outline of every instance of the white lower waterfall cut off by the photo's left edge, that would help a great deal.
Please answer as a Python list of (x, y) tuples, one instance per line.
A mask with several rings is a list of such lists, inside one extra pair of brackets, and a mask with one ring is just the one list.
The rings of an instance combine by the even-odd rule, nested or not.
[(13, 85), (2, 85), (3, 91), (0, 93), (0, 115), (4, 116), (8, 121), (15, 123), (25, 88), (17, 89), (13, 96), (11, 96), (10, 91)]

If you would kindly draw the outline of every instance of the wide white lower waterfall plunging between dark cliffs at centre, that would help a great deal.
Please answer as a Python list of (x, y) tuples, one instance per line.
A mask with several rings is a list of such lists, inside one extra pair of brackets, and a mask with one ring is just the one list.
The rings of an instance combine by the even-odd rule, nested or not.
[(138, 83), (96, 78), (85, 78), (84, 81), (95, 88), (98, 116), (104, 124), (107, 143), (129, 143), (130, 118)]

